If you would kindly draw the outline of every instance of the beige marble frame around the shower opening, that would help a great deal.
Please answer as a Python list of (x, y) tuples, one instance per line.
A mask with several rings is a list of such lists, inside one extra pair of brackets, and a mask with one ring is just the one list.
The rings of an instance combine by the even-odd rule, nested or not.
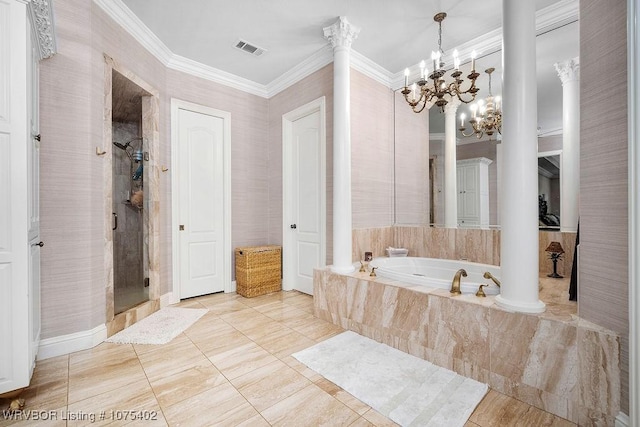
[[(105, 271), (105, 324), (107, 336), (111, 336), (127, 326), (142, 320), (149, 314), (160, 309), (160, 188), (159, 188), (159, 91), (126, 67), (118, 64), (113, 58), (104, 55), (105, 61), (105, 98), (104, 98), (104, 139), (103, 150), (107, 155), (103, 160), (103, 192), (104, 192), (104, 271)], [(131, 82), (142, 88), (149, 95), (142, 96), (142, 136), (143, 151), (148, 152), (148, 160), (145, 160), (144, 182), (145, 202), (143, 210), (143, 227), (148, 242), (148, 273), (149, 273), (149, 300), (138, 306), (115, 314), (114, 304), (114, 274), (113, 274), (113, 71), (117, 71)]]

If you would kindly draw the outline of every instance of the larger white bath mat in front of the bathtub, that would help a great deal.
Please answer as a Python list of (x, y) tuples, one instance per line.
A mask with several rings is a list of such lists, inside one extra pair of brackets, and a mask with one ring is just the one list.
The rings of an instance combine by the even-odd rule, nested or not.
[(402, 426), (464, 426), (489, 389), (351, 331), (293, 357)]

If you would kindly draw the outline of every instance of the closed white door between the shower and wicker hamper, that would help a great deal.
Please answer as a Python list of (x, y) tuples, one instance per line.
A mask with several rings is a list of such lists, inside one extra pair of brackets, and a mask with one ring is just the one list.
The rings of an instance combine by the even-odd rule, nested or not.
[(224, 121), (178, 110), (181, 299), (224, 290)]

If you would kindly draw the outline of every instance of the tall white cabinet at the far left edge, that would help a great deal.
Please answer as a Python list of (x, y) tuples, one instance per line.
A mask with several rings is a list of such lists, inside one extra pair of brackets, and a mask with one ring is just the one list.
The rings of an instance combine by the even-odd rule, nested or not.
[[(0, 2), (0, 393), (29, 385), (40, 340), (37, 56), (23, 2)], [(4, 24), (7, 25), (4, 25)], [(34, 169), (35, 167), (35, 169)], [(31, 246), (30, 246), (31, 245)]]

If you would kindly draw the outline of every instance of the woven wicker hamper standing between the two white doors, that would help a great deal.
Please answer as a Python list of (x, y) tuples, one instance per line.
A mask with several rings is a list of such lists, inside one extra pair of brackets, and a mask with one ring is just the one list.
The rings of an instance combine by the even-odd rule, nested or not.
[(236, 248), (236, 291), (251, 298), (282, 290), (280, 246)]

